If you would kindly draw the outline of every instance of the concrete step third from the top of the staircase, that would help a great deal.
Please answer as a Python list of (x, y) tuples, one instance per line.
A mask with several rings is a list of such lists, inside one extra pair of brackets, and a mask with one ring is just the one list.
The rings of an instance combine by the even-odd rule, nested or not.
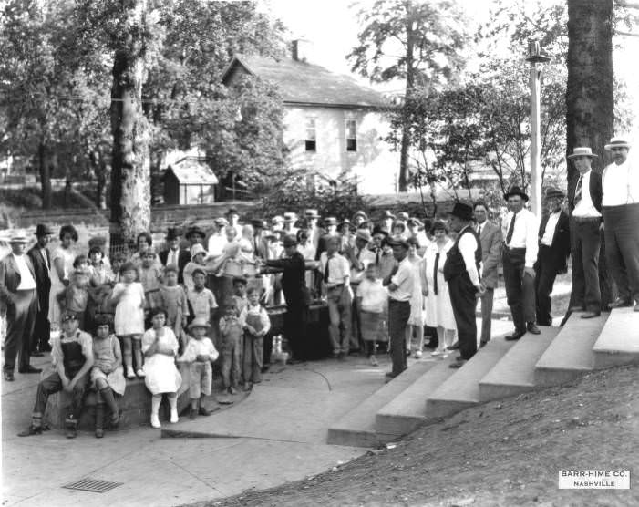
[(508, 398), (535, 388), (535, 365), (559, 327), (540, 326), (541, 335), (527, 333), (479, 382), (479, 401)]

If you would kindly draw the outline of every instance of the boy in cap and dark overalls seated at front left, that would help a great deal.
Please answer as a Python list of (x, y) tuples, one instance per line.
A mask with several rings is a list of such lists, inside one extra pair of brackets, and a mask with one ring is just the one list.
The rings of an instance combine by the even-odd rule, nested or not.
[(62, 333), (51, 338), (51, 356), (56, 371), (37, 385), (31, 425), (18, 433), (18, 437), (42, 433), (42, 416), (45, 413), (46, 400), (50, 394), (61, 390), (71, 395), (71, 404), (67, 407), (65, 417), (67, 438), (76, 437), (77, 420), (82, 410), (88, 373), (93, 367), (93, 340), (88, 333), (77, 328), (77, 316), (74, 312), (65, 311), (61, 320)]

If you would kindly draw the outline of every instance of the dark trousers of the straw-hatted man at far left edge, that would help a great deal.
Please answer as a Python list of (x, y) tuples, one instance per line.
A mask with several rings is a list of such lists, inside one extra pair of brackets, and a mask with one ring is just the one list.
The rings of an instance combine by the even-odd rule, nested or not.
[(31, 336), (36, 324), (36, 289), (12, 293), (13, 302), (6, 304), (5, 371), (14, 371), (15, 357), (18, 369), (29, 366)]

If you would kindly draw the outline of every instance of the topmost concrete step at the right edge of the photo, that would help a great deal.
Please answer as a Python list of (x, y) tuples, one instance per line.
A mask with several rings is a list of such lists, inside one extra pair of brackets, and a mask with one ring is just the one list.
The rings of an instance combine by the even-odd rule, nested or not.
[(616, 308), (593, 346), (595, 368), (639, 363), (639, 313)]

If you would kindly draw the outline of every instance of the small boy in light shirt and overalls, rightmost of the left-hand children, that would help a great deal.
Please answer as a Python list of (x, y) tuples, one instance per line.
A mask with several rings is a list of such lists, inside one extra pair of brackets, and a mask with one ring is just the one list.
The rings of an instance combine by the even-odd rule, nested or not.
[(240, 324), (244, 328), (243, 376), (244, 390), (262, 382), (263, 338), (271, 329), (271, 319), (260, 305), (255, 287), (248, 292), (249, 305), (242, 309)]

